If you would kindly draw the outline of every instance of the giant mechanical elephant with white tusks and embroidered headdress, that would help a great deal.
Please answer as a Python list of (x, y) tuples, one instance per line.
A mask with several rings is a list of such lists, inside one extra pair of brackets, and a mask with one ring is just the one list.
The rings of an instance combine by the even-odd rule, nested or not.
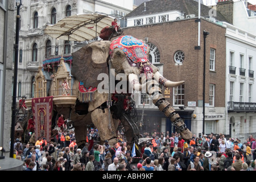
[[(76, 80), (84, 82), (86, 88), (89, 86), (96, 88), (102, 82), (97, 80), (100, 73), (109, 75), (110, 69), (114, 70), (115, 76), (123, 73), (134, 90), (146, 89), (154, 105), (170, 118), (172, 125), (183, 139), (191, 139), (191, 131), (187, 129), (183, 119), (175, 113), (170, 103), (164, 99), (159, 89), (159, 84), (171, 88), (183, 84), (184, 81), (172, 82), (160, 75), (158, 68), (148, 60), (148, 51), (148, 46), (142, 40), (132, 36), (120, 36), (112, 42), (105, 40), (93, 42), (72, 53), (71, 74)], [(102, 107), (109, 103), (111, 93), (100, 94), (98, 90), (96, 92), (95, 101), (89, 102), (88, 106), (90, 119), (100, 132), (101, 140), (117, 142), (116, 118), (113, 119), (113, 113), (109, 111), (110, 105)]]

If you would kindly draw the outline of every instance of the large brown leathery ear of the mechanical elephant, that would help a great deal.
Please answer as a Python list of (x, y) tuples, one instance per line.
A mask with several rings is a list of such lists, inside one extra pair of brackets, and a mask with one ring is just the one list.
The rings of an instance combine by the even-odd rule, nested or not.
[[(107, 52), (106, 52), (107, 51)], [(109, 55), (108, 43), (94, 42), (73, 52), (72, 76), (84, 82), (84, 86), (97, 87), (102, 80), (97, 80), (100, 73), (108, 75), (107, 59)]]

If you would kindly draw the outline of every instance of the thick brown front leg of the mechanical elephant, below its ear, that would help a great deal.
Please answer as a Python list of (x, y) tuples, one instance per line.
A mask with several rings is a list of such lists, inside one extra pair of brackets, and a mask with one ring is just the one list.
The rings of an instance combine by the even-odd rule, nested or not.
[(91, 116), (94, 126), (98, 129), (101, 141), (109, 140), (110, 145), (117, 143), (115, 124), (112, 115), (109, 115), (108, 108), (104, 109), (104, 112), (101, 109), (95, 109), (92, 111)]

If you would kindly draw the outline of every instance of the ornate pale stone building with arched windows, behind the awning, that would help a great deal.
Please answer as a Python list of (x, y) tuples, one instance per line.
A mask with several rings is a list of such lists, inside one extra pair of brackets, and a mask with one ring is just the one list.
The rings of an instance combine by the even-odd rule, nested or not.
[(43, 30), (47, 24), (55, 24), (65, 16), (94, 12), (122, 18), (133, 10), (133, 1), (125, 0), (23, 0), (22, 4), (17, 96), (27, 98), (33, 96), (34, 78), (43, 60), (68, 56), (75, 51), (76, 42), (45, 35)]

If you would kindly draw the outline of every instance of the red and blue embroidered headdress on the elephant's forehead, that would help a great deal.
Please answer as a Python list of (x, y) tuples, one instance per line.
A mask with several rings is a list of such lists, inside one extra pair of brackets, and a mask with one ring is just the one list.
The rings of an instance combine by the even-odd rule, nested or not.
[(136, 39), (130, 35), (120, 36), (110, 44), (110, 56), (112, 56), (115, 48), (122, 49), (131, 67), (137, 67), (147, 78), (154, 76), (151, 68), (152, 64), (147, 57), (148, 46), (144, 44), (142, 40)]

